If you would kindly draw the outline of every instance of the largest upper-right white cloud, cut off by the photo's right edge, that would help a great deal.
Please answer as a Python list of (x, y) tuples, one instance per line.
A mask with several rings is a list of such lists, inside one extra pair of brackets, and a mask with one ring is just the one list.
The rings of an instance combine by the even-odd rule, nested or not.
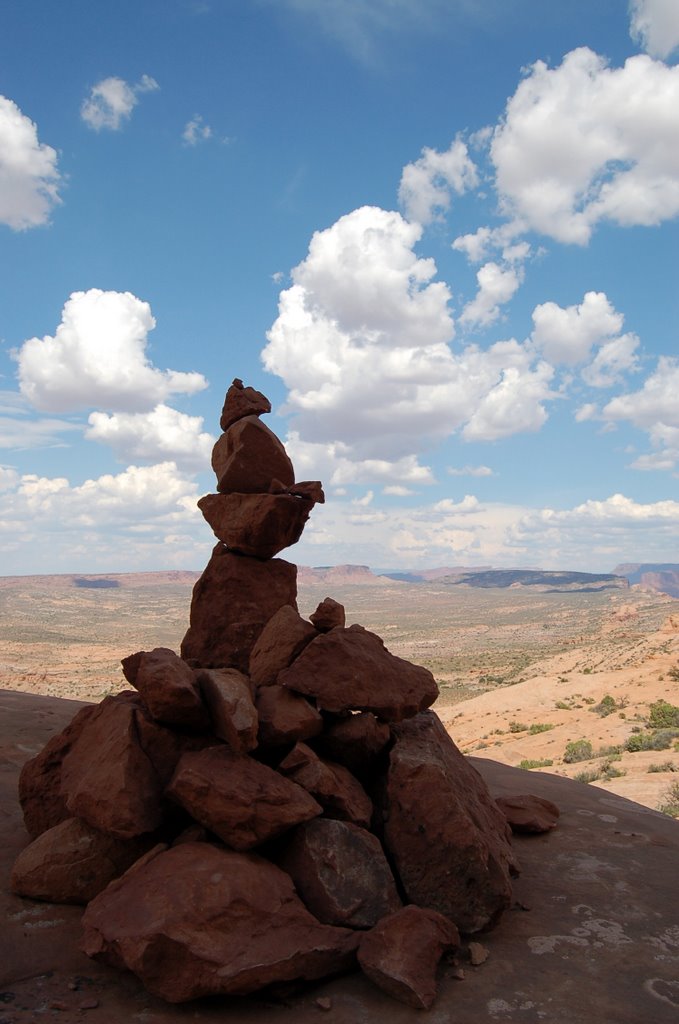
[[(652, 225), (679, 213), (679, 68), (587, 47), (538, 60), (507, 103), (491, 158), (516, 229), (586, 245), (602, 220)], [(464, 237), (463, 237), (464, 238)]]

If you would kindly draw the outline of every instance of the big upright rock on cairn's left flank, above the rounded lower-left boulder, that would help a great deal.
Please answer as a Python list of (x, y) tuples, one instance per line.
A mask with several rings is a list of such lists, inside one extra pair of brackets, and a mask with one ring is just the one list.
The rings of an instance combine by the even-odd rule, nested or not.
[(105, 697), (61, 764), (71, 816), (118, 839), (156, 829), (163, 818), (158, 775), (139, 745), (136, 706)]

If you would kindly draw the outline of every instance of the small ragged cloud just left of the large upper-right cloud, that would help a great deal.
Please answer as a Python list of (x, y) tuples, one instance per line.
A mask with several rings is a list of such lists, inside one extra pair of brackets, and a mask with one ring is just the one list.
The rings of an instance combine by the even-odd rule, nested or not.
[(467, 146), (458, 136), (445, 153), (425, 146), (422, 156), (404, 168), (398, 186), (398, 200), (406, 217), (420, 224), (429, 224), (437, 212), (451, 205), (451, 193), (458, 196), (478, 184), (478, 174)]

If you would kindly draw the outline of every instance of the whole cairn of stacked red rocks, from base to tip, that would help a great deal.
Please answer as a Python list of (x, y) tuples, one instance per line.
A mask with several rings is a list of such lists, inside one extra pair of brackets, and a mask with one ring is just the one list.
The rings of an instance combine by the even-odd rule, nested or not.
[(25, 766), (12, 888), (86, 903), (84, 951), (169, 1001), (358, 966), (428, 1007), (443, 953), (510, 903), (507, 819), (428, 710), (431, 673), (332, 598), (299, 614), (275, 556), (324, 495), (295, 482), (269, 411), (234, 381), (180, 654), (123, 658), (133, 689)]

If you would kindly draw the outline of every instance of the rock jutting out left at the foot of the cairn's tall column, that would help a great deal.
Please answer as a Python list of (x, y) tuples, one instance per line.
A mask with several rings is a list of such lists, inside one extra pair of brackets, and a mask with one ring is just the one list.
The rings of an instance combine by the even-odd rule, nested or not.
[(168, 647), (140, 652), (134, 686), (157, 722), (209, 728), (210, 718), (193, 670)]

